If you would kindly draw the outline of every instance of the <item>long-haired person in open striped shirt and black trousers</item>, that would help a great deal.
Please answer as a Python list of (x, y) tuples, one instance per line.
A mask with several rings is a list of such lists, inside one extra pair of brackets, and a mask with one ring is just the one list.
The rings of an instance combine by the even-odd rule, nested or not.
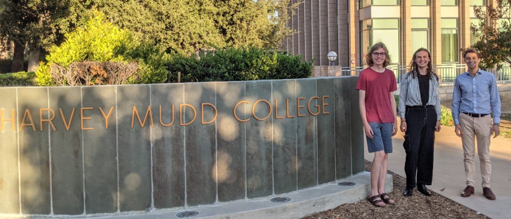
[(433, 145), (435, 131), (440, 131), (440, 100), (438, 77), (432, 71), (430, 60), (431, 54), (425, 48), (415, 51), (410, 71), (399, 84), (400, 129), (405, 132), (406, 152), (404, 196), (412, 196), (415, 186), (425, 196), (431, 196), (426, 185), (431, 185), (433, 178)]

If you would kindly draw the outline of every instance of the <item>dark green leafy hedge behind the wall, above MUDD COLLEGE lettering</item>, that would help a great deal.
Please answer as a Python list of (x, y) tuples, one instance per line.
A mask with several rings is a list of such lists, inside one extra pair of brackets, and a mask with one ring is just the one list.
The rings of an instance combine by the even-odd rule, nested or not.
[(312, 61), (301, 62), (300, 56), (260, 48), (229, 47), (199, 58), (175, 55), (167, 69), (171, 82), (177, 82), (177, 72), (181, 72), (181, 82), (293, 79), (310, 77)]

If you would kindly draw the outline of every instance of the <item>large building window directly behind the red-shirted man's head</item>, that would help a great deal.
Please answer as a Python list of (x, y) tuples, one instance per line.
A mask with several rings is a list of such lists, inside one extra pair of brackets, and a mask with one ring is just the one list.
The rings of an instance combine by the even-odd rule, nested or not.
[(390, 55), (391, 63), (399, 63), (399, 19), (368, 19), (360, 21), (361, 60), (373, 44), (383, 42)]

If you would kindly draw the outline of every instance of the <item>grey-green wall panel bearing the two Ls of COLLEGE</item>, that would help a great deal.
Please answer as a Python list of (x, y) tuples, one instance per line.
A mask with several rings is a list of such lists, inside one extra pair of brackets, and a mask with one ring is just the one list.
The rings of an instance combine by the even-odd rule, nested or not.
[[(297, 189), (296, 176), (296, 108), (286, 99), (296, 100), (295, 80), (272, 82), (273, 105), (273, 183), (275, 194)], [(276, 100), (276, 103), (275, 103)]]

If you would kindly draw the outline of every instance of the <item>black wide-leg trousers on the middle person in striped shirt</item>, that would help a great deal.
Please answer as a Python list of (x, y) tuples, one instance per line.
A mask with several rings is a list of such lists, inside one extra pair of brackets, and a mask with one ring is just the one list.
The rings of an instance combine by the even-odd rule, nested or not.
[(406, 184), (415, 186), (418, 182), (431, 185), (436, 125), (435, 108), (432, 106), (429, 108), (407, 107), (405, 118), (407, 127), (403, 147), (406, 152)]

